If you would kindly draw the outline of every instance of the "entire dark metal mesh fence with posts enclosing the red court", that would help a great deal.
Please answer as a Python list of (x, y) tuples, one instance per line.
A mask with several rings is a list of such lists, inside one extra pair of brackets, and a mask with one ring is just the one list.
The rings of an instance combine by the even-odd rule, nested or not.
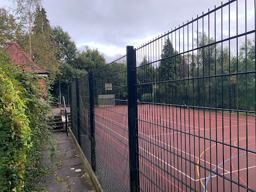
[(256, 191), (255, 7), (229, 1), (71, 84), (105, 191)]

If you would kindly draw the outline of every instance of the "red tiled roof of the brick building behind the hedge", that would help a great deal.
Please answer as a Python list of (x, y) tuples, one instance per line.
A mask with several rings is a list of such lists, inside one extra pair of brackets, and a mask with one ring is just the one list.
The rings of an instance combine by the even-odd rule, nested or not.
[(7, 44), (3, 51), (10, 56), (14, 64), (20, 65), (25, 71), (37, 74), (49, 74), (47, 71), (40, 69), (21, 49), (17, 42), (13, 41), (12, 43)]

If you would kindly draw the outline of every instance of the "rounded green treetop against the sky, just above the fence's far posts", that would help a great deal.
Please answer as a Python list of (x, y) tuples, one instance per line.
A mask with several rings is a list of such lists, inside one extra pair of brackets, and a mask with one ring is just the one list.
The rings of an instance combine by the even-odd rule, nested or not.
[(95, 70), (106, 65), (106, 60), (98, 49), (89, 49), (85, 46), (86, 51), (79, 53), (75, 62), (77, 69)]

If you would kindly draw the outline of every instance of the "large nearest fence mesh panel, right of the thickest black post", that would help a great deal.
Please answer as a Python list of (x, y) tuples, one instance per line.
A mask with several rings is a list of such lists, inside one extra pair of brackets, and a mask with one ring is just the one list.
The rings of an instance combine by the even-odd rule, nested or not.
[(136, 50), (142, 191), (256, 190), (251, 3), (230, 1)]

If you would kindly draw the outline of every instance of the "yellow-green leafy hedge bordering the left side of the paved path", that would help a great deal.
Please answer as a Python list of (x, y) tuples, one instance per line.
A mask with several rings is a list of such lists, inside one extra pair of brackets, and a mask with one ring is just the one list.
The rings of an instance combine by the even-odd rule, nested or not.
[[(38, 77), (9, 64), (0, 52), (0, 191), (30, 191), (39, 151), (49, 137), (49, 103)], [(36, 171), (37, 170), (37, 171)]]

